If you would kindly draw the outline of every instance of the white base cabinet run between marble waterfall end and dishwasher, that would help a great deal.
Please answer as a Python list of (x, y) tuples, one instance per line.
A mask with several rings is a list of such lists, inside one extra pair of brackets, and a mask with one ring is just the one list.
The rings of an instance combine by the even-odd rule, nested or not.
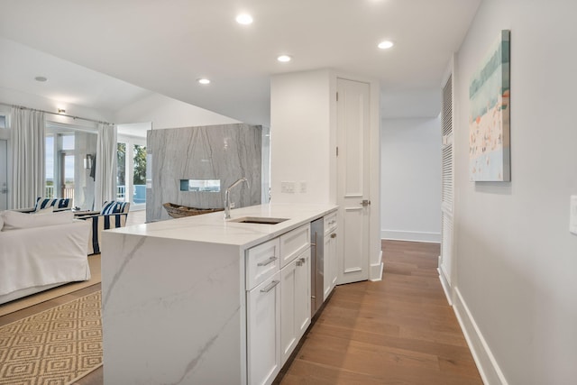
[(247, 378), (250, 385), (270, 384), (310, 325), (310, 225), (245, 256)]

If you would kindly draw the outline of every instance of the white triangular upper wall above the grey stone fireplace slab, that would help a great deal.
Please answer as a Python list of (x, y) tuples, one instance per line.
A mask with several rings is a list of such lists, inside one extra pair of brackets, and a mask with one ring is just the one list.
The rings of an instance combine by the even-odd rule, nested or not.
[[(241, 123), (227, 116), (218, 115), (196, 105), (188, 105), (160, 94), (153, 94), (132, 105), (124, 106), (114, 116), (114, 122), (119, 124), (152, 122), (153, 130)], [(146, 137), (146, 133), (143, 133), (143, 136)]]

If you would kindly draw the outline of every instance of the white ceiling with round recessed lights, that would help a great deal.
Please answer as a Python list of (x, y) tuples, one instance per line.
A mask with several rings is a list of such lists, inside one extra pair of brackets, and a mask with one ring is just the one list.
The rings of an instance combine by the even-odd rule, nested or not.
[[(269, 125), (271, 75), (332, 68), (379, 79), (382, 115), (434, 115), (480, 2), (3, 0), (0, 87), (105, 111), (153, 91)], [(377, 49), (385, 39), (396, 45)]]

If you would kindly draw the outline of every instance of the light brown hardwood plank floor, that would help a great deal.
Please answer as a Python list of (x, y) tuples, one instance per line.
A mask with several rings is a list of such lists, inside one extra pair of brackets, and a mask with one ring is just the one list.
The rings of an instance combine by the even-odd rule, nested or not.
[[(439, 245), (383, 241), (382, 250), (383, 280), (335, 288), (275, 383), (482, 384), (439, 282)], [(97, 289), (1, 316), (0, 325)], [(76, 384), (102, 385), (102, 368)]]

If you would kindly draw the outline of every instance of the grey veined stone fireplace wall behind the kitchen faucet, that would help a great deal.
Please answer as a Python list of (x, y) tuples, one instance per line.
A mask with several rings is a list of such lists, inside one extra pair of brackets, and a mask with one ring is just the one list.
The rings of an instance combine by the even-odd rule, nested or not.
[[(236, 207), (261, 204), (261, 126), (219, 124), (151, 130), (147, 133), (149, 171), (146, 222), (170, 219), (164, 203), (198, 208), (224, 207), (224, 191), (237, 179), (249, 180), (231, 191)], [(220, 192), (181, 191), (181, 179), (219, 179)]]

